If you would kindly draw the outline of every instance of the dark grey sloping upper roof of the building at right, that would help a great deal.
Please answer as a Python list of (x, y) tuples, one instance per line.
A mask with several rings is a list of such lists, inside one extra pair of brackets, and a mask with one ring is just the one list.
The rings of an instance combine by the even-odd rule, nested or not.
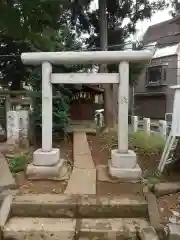
[(147, 45), (153, 42), (157, 42), (157, 45), (159, 47), (165, 47), (167, 45), (179, 43), (180, 42), (179, 25), (172, 22), (171, 19), (150, 26), (143, 37), (143, 43)]

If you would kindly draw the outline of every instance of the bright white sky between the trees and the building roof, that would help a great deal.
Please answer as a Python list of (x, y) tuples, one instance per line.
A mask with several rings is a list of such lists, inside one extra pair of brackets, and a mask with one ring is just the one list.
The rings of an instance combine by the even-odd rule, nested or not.
[[(94, 0), (92, 3), (92, 8), (98, 8), (98, 0)], [(166, 10), (156, 12), (151, 20), (145, 20), (143, 22), (137, 23), (137, 34), (135, 38), (142, 36), (147, 28), (151, 25), (166, 21), (171, 18), (169, 14), (170, 8), (166, 8)]]

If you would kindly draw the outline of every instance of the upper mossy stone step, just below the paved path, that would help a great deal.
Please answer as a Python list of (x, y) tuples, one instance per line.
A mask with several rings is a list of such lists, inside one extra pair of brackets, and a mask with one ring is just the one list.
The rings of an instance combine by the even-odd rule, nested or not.
[(13, 198), (11, 216), (52, 218), (148, 218), (143, 197), (26, 194)]

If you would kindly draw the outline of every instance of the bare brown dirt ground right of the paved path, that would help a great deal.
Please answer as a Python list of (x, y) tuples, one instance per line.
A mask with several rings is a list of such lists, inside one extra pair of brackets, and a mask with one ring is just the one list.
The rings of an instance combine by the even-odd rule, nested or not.
[[(96, 165), (107, 165), (110, 157), (110, 150), (105, 147), (97, 136), (88, 136), (92, 157)], [(160, 156), (146, 157), (138, 156), (138, 164), (144, 175), (151, 175), (157, 170)], [(178, 166), (179, 165), (179, 166)], [(180, 182), (180, 164), (168, 167), (165, 174), (159, 179), (161, 182)], [(97, 182), (98, 195), (121, 195), (136, 194), (142, 195), (143, 184), (133, 183), (107, 183)], [(158, 207), (162, 223), (180, 223), (180, 193), (166, 195), (158, 198)]]

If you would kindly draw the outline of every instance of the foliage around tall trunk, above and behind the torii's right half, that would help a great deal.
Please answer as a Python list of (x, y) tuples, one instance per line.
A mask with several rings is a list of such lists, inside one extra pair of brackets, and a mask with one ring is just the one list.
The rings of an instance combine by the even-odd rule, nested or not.
[[(73, 23), (79, 24), (89, 32), (86, 45), (89, 49), (100, 50), (100, 24), (99, 9), (90, 9), (89, 0), (72, 0)], [(140, 20), (149, 19), (157, 10), (167, 6), (166, 0), (106, 0), (108, 50), (122, 50), (125, 40), (134, 34), (136, 24)], [(134, 68), (134, 70), (133, 70)], [(108, 66), (109, 72), (117, 70), (117, 66)], [(130, 81), (132, 75), (142, 70), (142, 65), (132, 64), (130, 69)], [(132, 83), (132, 81), (131, 81)]]

